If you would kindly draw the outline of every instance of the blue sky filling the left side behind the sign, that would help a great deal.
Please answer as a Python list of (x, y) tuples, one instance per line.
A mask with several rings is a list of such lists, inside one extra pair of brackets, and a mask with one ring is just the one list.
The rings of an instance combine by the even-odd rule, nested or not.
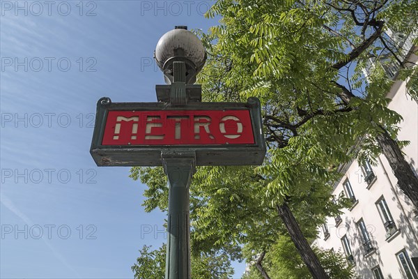
[(0, 278), (132, 278), (138, 250), (166, 241), (130, 168), (95, 166), (93, 114), (102, 96), (155, 101), (158, 39), (206, 31), (211, 3), (1, 1)]

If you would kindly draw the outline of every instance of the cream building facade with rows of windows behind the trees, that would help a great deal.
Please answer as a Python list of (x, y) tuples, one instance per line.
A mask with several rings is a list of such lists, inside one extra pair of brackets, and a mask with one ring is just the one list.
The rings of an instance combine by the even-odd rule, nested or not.
[[(418, 57), (410, 54), (408, 61), (417, 63)], [(418, 102), (400, 81), (387, 97), (389, 108), (403, 116), (398, 140), (410, 141), (403, 152), (418, 176)], [(314, 245), (345, 253), (357, 278), (418, 279), (418, 212), (396, 185), (385, 156), (378, 157), (377, 166), (353, 161), (342, 172), (332, 194), (353, 204), (341, 216), (327, 218)]]

